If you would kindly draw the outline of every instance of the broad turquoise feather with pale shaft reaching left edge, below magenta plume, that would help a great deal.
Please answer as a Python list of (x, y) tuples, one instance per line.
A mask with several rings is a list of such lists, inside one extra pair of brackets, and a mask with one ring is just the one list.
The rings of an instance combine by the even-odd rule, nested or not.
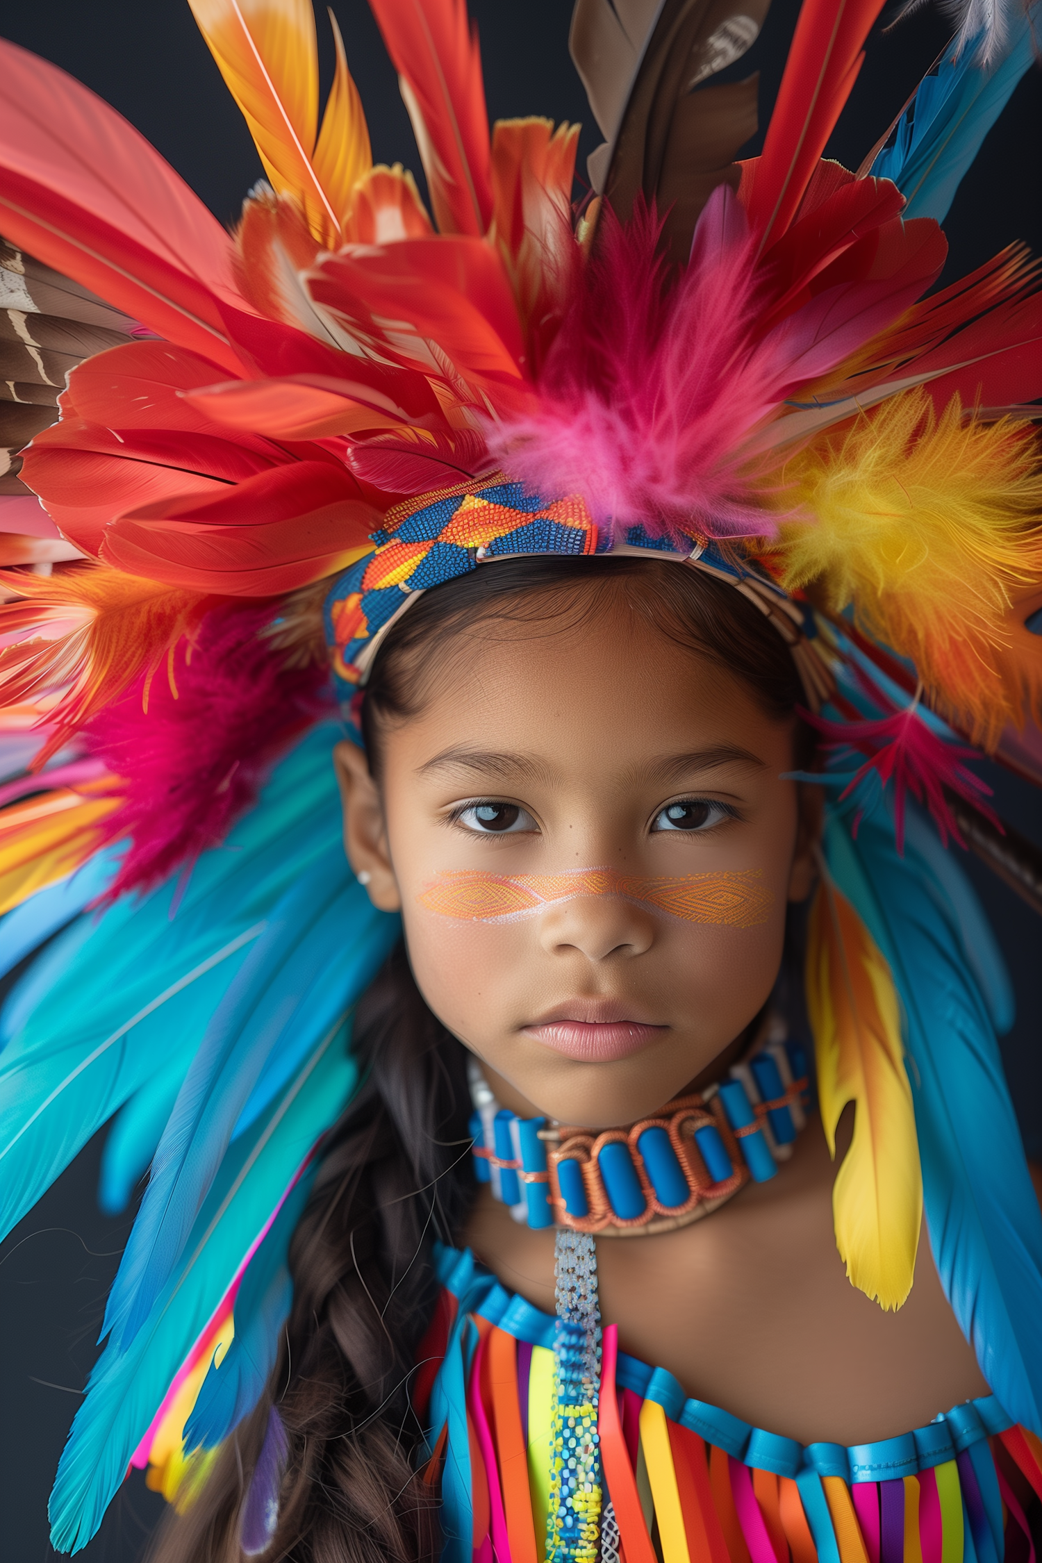
[[(272, 907), (320, 860), (342, 861), (333, 724), (277, 767), (223, 847), (175, 886), (80, 916), (0, 1014), (0, 1232), (39, 1199), (170, 1047), (198, 1047)], [(387, 919), (394, 924), (394, 919)]]

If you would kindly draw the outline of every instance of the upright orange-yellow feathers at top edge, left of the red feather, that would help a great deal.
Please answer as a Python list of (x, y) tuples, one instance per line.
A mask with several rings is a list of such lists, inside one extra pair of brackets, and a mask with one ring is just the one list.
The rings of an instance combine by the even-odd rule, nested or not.
[(311, 0), (189, 0), (189, 5), (275, 191), (300, 203), (320, 244), (337, 249), (351, 184), (372, 156), (336, 22), (336, 78), (316, 147), (319, 53)]

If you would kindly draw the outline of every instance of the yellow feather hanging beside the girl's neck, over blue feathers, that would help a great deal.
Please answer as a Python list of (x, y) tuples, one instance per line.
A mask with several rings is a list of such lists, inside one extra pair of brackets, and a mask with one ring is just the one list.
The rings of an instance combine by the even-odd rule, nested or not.
[(923, 1183), (890, 969), (864, 922), (823, 882), (811, 908), (806, 1000), (828, 1147), (855, 1103), (855, 1135), (836, 1174), (833, 1219), (847, 1275), (881, 1308), (912, 1288)]

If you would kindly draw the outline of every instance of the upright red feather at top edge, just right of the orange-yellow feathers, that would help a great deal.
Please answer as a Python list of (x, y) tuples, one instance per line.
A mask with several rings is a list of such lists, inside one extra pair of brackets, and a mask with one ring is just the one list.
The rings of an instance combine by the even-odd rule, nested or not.
[(442, 233), (481, 238), (492, 219), (489, 116), (466, 0), (370, 0), (423, 159)]

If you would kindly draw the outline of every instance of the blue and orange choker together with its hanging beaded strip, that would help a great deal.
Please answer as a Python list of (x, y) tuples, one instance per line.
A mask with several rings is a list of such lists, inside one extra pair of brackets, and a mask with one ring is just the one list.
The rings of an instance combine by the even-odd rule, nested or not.
[(551, 1466), (547, 1563), (619, 1563), (603, 1499), (601, 1324), (595, 1235), (644, 1236), (711, 1214), (792, 1155), (806, 1122), (806, 1052), (770, 1016), (723, 1080), (597, 1135), (500, 1107), (470, 1060), (473, 1169), (519, 1222), (555, 1233)]

